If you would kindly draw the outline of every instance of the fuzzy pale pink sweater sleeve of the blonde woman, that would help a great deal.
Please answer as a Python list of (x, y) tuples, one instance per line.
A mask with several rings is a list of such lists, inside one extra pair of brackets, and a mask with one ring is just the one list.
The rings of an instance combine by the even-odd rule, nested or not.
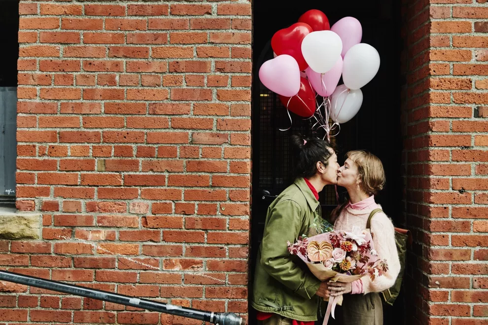
[(395, 229), (393, 224), (384, 213), (377, 213), (371, 220), (371, 233), (373, 234), (373, 244), (378, 252), (378, 257), (388, 264), (388, 271), (371, 281), (369, 276), (363, 277), (363, 291), (382, 292), (391, 288), (400, 272), (400, 260), (395, 244)]

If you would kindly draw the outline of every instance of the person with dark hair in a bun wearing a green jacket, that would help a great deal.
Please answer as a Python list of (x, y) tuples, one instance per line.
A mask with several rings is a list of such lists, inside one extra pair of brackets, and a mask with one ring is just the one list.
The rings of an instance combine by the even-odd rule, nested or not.
[(316, 218), (321, 219), (318, 192), (337, 183), (339, 164), (327, 141), (291, 139), (297, 149), (297, 178), (268, 208), (254, 274), (251, 304), (264, 325), (314, 324), (319, 297), (328, 291), (327, 282), (290, 255), (286, 243), (308, 235)]

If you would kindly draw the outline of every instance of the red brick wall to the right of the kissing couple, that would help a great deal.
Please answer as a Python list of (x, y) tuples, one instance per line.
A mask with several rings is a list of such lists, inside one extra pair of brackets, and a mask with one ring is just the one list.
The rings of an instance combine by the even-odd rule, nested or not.
[(488, 3), (404, 1), (407, 324), (488, 316)]

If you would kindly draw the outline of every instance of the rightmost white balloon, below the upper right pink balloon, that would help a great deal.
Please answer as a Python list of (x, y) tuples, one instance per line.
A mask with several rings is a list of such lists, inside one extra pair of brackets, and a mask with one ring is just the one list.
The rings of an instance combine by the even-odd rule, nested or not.
[(342, 80), (349, 89), (359, 89), (371, 81), (380, 69), (380, 54), (371, 45), (359, 43), (344, 56)]

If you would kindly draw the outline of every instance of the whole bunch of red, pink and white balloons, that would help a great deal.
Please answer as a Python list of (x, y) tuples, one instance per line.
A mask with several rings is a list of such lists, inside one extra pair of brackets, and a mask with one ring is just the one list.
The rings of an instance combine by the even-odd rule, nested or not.
[[(298, 23), (274, 34), (271, 47), (275, 58), (261, 66), (259, 79), (279, 94), (288, 111), (304, 118), (314, 117), (314, 127), (323, 128), (330, 139), (331, 130), (359, 111), (363, 100), (360, 88), (380, 68), (378, 51), (360, 43), (361, 37), (357, 19), (344, 17), (330, 27), (323, 12), (309, 10)], [(344, 84), (338, 86), (341, 75)], [(322, 97), (321, 103), (316, 101), (318, 96)]]

